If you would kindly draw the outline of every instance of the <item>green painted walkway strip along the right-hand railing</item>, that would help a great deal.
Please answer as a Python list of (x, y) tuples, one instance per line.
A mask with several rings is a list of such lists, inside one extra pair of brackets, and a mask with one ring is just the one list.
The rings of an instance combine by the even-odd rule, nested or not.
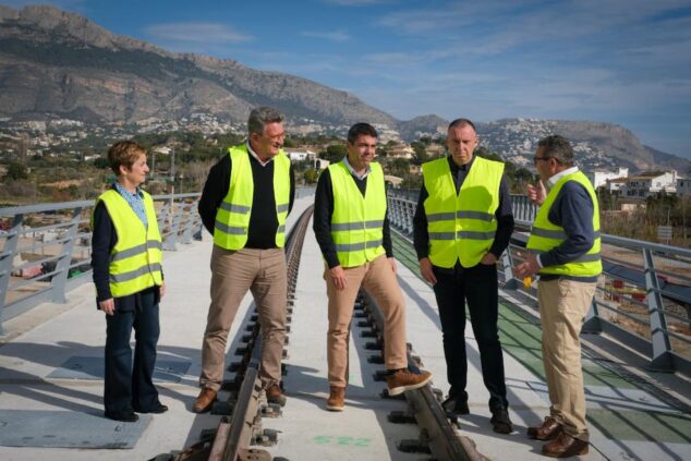
[[(420, 277), (417, 257), (410, 242), (397, 232), (391, 233), (396, 257)], [(504, 350), (545, 380), (542, 363), (542, 330), (520, 307), (502, 303), (499, 308), (499, 336)], [(583, 357), (585, 386), (604, 386), (613, 389), (642, 389), (625, 376)], [(587, 420), (607, 438), (669, 444), (691, 442), (691, 417), (681, 413), (659, 413), (642, 410), (589, 409)]]

